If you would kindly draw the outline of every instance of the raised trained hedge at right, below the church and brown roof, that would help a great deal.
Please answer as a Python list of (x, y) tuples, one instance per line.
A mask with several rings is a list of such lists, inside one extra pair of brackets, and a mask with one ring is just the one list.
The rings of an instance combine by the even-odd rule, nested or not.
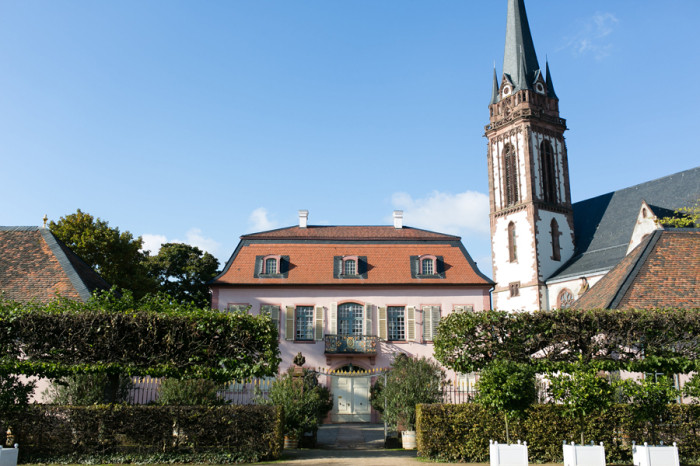
[(462, 373), (499, 359), (546, 372), (579, 357), (605, 370), (689, 373), (700, 368), (700, 310), (456, 312), (438, 327), (435, 357)]

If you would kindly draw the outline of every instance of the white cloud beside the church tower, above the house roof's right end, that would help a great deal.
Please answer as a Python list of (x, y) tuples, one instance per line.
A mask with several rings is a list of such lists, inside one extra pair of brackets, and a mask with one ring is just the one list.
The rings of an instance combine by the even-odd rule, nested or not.
[(489, 197), (486, 194), (433, 191), (425, 198), (413, 199), (407, 193), (395, 193), (391, 202), (396, 209), (404, 211), (406, 225), (460, 236), (489, 235)]

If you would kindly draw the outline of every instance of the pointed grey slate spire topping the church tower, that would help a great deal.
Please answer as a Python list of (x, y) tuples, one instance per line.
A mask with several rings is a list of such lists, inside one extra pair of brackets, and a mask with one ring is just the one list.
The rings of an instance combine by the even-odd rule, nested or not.
[[(521, 67), (525, 72), (522, 77), (519, 76), (523, 71)], [(539, 69), (524, 0), (508, 0), (503, 74), (508, 75), (516, 89), (530, 89)]]

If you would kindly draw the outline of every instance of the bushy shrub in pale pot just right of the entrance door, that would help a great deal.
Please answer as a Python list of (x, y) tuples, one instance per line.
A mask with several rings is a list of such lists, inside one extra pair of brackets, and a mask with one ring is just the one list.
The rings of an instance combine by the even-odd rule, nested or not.
[(386, 384), (379, 379), (372, 389), (371, 403), (393, 429), (402, 429), (405, 449), (416, 447), (416, 405), (442, 401), (445, 374), (426, 358), (399, 353), (391, 363)]

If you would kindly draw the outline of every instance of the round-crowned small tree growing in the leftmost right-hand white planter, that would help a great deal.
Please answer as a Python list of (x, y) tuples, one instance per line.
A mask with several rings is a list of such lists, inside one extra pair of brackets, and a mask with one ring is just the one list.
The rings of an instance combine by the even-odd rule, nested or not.
[(535, 381), (532, 367), (503, 360), (491, 362), (479, 375), (475, 401), (503, 413), (507, 443), (510, 443), (508, 421), (522, 416), (537, 399)]

